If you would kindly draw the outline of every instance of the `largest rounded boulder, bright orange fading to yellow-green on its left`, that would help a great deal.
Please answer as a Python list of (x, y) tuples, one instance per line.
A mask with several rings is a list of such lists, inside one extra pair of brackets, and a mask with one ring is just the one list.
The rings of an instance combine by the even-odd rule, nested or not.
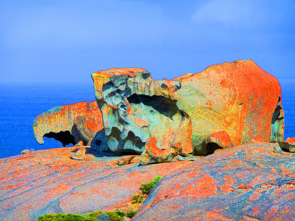
[(234, 146), (257, 136), (266, 142), (283, 140), (280, 84), (251, 60), (216, 64), (158, 83), (173, 91), (178, 108), (191, 118), (193, 147), (223, 130)]

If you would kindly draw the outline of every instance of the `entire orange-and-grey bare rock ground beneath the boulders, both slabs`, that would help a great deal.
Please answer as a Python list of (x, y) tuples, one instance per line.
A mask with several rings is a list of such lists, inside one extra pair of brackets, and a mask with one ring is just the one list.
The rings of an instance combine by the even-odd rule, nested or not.
[[(140, 184), (164, 176), (137, 220), (294, 220), (295, 156), (275, 143), (220, 149), (195, 161), (138, 166), (123, 157), (70, 160), (76, 147), (0, 159), (0, 220), (35, 221), (45, 213), (125, 208)], [(49, 160), (50, 159), (50, 160)]]

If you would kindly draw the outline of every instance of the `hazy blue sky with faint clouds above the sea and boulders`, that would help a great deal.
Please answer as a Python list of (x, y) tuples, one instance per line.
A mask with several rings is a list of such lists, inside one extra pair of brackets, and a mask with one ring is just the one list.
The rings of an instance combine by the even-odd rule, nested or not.
[(141, 67), (153, 79), (251, 59), (295, 78), (295, 1), (0, 1), (0, 83), (92, 84)]

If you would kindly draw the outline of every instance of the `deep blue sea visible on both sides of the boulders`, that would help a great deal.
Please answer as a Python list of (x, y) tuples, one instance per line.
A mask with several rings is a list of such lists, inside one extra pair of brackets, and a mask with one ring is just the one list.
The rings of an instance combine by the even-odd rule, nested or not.
[[(279, 79), (285, 114), (284, 137), (295, 137), (295, 79)], [(89, 85), (1, 84), (0, 85), (0, 158), (20, 154), (24, 149), (43, 150), (62, 147), (53, 138), (44, 137), (39, 145), (33, 133), (33, 120), (50, 108), (95, 100)], [(67, 145), (72, 146), (72, 145)]]

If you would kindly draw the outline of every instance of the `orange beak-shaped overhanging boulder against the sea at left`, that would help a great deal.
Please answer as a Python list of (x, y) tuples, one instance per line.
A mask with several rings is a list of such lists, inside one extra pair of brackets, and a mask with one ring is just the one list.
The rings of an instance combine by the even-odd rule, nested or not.
[(34, 122), (34, 135), (39, 144), (43, 137), (75, 145), (87, 145), (103, 129), (101, 111), (95, 101), (80, 102), (52, 108), (38, 115)]

